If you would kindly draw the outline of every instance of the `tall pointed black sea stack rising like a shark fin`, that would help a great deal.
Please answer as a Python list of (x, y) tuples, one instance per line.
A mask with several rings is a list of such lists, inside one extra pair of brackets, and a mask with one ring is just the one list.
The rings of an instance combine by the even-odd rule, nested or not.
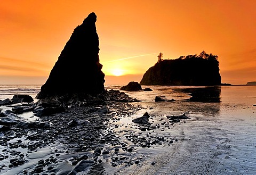
[(36, 98), (100, 94), (105, 90), (96, 20), (95, 13), (91, 13), (75, 28)]

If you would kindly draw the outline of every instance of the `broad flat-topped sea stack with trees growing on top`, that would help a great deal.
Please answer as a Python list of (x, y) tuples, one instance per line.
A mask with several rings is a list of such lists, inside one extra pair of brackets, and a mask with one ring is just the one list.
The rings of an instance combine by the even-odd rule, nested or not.
[(175, 60), (162, 60), (143, 75), (140, 85), (213, 86), (221, 85), (217, 55), (181, 56)]

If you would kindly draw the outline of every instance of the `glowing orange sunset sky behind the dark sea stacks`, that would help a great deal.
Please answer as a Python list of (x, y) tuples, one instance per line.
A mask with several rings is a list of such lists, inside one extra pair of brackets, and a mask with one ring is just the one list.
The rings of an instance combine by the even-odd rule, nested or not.
[(44, 84), (91, 12), (106, 84), (140, 81), (159, 52), (176, 59), (203, 50), (219, 55), (222, 82), (246, 84), (256, 81), (255, 8), (254, 0), (1, 1), (0, 84)]

